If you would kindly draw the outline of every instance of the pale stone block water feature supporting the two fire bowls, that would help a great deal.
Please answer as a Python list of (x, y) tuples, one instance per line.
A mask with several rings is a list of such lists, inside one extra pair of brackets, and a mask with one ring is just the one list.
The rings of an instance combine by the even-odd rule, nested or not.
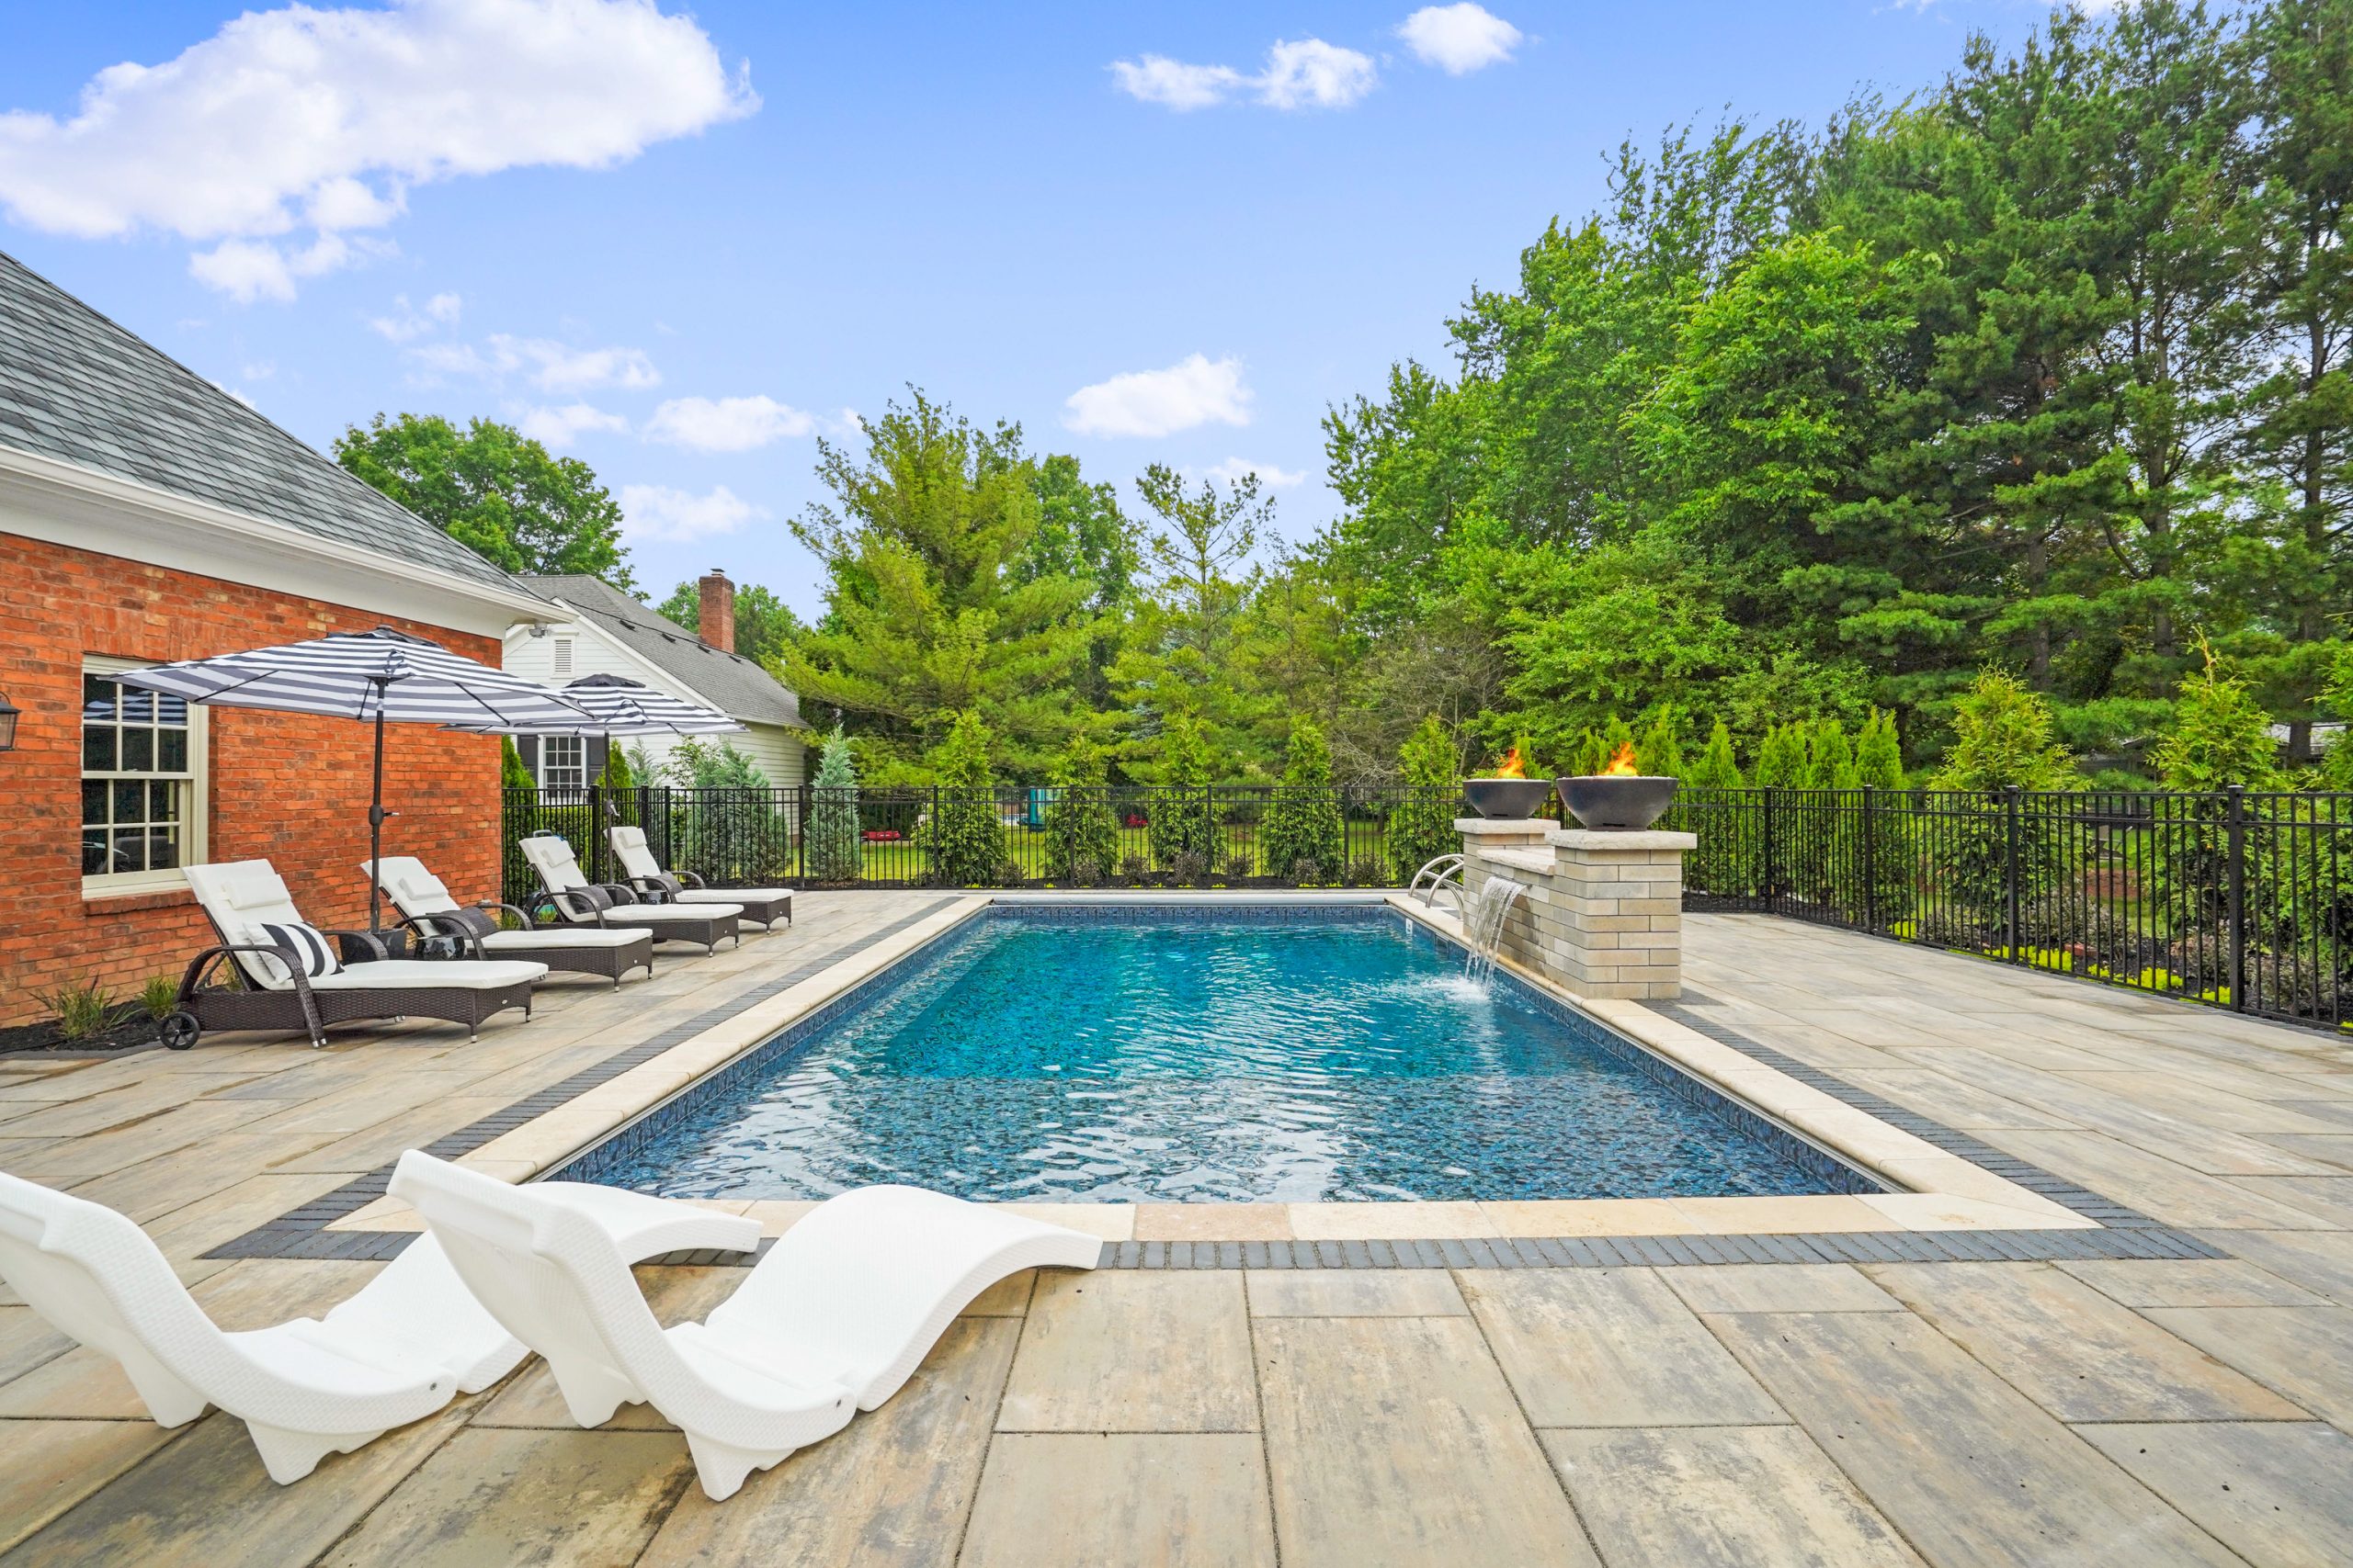
[(1595, 832), (1544, 820), (1464, 818), (1464, 893), (1492, 877), (1527, 886), (1504, 922), (1504, 957), (1581, 997), (1682, 994), (1682, 856), (1689, 832)]

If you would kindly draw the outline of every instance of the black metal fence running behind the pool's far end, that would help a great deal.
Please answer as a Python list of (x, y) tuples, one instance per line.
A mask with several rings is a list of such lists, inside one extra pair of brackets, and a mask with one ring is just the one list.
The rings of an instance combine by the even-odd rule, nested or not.
[[(1268, 825), (1285, 797), (1318, 806), (1306, 816), (1322, 827), (1311, 835), (1313, 853), (1275, 865), (1282, 853)], [(506, 898), (525, 903), (536, 889), (515, 846), (529, 832), (562, 835), (591, 882), (621, 882), (612, 823), (645, 827), (666, 870), (713, 886), (948, 886), (934, 865), (936, 825), (958, 804), (976, 806), (1002, 839), (995, 870), (958, 886), (1391, 886), (1457, 846), (1452, 827), (1431, 837), (1428, 823), (1461, 811), (1452, 790), (1355, 785), (1005, 788), (981, 802), (932, 788), (508, 790)], [(1421, 806), (1419, 827), (1409, 804)]]

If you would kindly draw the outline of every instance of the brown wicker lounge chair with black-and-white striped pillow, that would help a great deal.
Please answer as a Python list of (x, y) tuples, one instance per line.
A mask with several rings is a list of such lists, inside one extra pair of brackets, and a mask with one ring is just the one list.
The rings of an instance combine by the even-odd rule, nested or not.
[[(162, 1041), (174, 1051), (193, 1046), (205, 1030), (301, 1030), (313, 1046), (325, 1046), (329, 1023), (412, 1016), (461, 1023), (473, 1039), (482, 1020), (504, 1009), (520, 1006), (529, 1018), (532, 985), (548, 973), (546, 964), (506, 959), (386, 959), (384, 940), (367, 931), (313, 933), (332, 938), (348, 966), (339, 961), (329, 973), (306, 973), (313, 961), (289, 943), (308, 940), (308, 926), (268, 860), (186, 870), (195, 903), (221, 940), (195, 954), (179, 980), (179, 1011), (162, 1027)], [(235, 969), (242, 990), (205, 985), (224, 961)]]

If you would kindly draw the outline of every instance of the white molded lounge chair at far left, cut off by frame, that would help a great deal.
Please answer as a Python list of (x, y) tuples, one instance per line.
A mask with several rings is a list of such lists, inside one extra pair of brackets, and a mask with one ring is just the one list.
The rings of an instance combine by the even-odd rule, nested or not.
[[(755, 1220), (619, 1187), (541, 1182), (534, 1192), (624, 1265), (760, 1241)], [(325, 1319), (224, 1333), (129, 1218), (0, 1175), (0, 1276), (52, 1328), (120, 1361), (158, 1425), (186, 1425), (205, 1406), (240, 1418), (278, 1483), (487, 1389), (529, 1354), (473, 1300), (433, 1237), (412, 1241)]]

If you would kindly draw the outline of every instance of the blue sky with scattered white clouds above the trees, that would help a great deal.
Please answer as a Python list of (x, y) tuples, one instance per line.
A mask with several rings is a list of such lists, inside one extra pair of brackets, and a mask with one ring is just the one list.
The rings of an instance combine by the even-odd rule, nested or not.
[(1821, 120), (2042, 9), (1412, 14), (12, 0), (0, 249), (320, 447), (529, 421), (624, 496), (642, 588), (814, 611), (816, 437), (908, 383), (1092, 477), (1254, 465), (1304, 538), (1325, 407), (1442, 360), (1621, 136)]

